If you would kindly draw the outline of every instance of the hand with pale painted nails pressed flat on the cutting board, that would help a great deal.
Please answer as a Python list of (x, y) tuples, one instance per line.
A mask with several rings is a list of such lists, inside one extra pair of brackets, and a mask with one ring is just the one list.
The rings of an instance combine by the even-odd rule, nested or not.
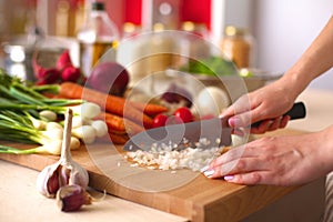
[(219, 157), (204, 174), (241, 184), (303, 184), (332, 170), (332, 134), (333, 127), (316, 133), (259, 139)]

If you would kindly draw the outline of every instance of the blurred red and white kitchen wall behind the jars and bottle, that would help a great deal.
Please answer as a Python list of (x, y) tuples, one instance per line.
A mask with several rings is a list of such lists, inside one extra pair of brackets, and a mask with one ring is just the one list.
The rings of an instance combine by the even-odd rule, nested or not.
[[(92, 0), (0, 0), (1, 56), (4, 42), (26, 33), (52, 37), (69, 46), (84, 23)], [(332, 0), (104, 0), (121, 38), (163, 29), (192, 29), (219, 46), (228, 26), (246, 29), (253, 38), (252, 67), (279, 73), (287, 70), (332, 17)], [(190, 26), (190, 28), (191, 28)], [(37, 28), (36, 28), (37, 27)], [(333, 50), (333, 49), (332, 49)], [(74, 52), (75, 53), (75, 49)], [(333, 59), (333, 58), (332, 58)], [(78, 64), (78, 61), (74, 61)], [(3, 65), (3, 64), (1, 64)], [(333, 90), (333, 70), (311, 83)]]

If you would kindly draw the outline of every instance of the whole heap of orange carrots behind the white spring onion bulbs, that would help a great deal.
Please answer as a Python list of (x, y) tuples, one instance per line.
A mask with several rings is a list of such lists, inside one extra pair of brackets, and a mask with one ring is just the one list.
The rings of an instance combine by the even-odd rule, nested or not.
[(36, 87), (38, 91), (53, 93), (64, 99), (82, 99), (98, 104), (102, 112), (95, 118), (105, 121), (108, 137), (113, 143), (123, 144), (130, 135), (150, 129), (153, 117), (168, 111), (168, 108), (152, 103), (131, 102), (127, 99), (85, 88), (74, 82)]

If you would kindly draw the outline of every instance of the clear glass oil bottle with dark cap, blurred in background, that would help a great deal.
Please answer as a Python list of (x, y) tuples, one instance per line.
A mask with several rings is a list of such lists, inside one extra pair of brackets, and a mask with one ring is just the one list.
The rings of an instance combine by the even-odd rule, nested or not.
[(85, 24), (78, 32), (80, 67), (87, 77), (109, 49), (117, 48), (119, 38), (119, 30), (108, 16), (104, 3), (92, 2)]

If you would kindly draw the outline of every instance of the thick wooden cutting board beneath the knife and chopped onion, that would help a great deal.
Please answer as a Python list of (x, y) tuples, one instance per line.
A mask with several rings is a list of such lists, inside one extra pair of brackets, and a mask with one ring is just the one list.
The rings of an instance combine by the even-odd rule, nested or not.
[[(300, 133), (303, 132), (284, 129), (265, 135)], [(31, 148), (27, 144), (0, 143)], [(97, 143), (82, 145), (72, 151), (72, 157), (89, 171), (90, 186), (190, 221), (240, 221), (296, 189), (236, 185), (185, 170), (142, 170), (131, 167), (120, 150), (120, 147), (109, 143)], [(0, 159), (40, 171), (59, 157), (0, 154)]]

